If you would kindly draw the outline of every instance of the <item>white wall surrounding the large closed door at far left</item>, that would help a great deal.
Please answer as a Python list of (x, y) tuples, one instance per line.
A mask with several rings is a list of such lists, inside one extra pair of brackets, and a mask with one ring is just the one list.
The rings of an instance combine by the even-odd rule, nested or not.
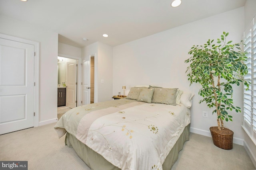
[(40, 42), (39, 125), (57, 121), (58, 34), (2, 15), (0, 23), (1, 33)]

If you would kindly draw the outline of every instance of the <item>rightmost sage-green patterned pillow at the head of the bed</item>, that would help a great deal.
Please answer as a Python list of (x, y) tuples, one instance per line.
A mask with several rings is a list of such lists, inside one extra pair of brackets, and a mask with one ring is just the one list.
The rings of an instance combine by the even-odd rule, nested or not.
[(154, 88), (152, 103), (176, 105), (176, 91), (178, 88)]

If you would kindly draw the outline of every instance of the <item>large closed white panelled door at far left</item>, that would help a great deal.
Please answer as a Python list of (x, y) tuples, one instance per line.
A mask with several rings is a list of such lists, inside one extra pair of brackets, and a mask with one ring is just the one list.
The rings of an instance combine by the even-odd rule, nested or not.
[(34, 127), (34, 45), (0, 38), (0, 134)]

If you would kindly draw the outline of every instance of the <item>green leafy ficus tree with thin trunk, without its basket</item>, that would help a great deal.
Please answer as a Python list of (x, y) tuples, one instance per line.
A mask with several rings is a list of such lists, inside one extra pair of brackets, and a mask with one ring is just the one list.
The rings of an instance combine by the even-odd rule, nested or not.
[(223, 120), (232, 121), (228, 110), (241, 112), (240, 107), (233, 106), (232, 86), (242, 83), (249, 89), (249, 82), (243, 78), (248, 73), (244, 64), (246, 53), (241, 49), (243, 42), (232, 44), (226, 41), (227, 36), (223, 32), (217, 44), (209, 39), (204, 45), (193, 45), (188, 52), (192, 57), (185, 60), (190, 63), (186, 70), (190, 85), (194, 82), (202, 85), (198, 94), (203, 99), (199, 103), (215, 107), (212, 113), (217, 113), (218, 130), (224, 129)]

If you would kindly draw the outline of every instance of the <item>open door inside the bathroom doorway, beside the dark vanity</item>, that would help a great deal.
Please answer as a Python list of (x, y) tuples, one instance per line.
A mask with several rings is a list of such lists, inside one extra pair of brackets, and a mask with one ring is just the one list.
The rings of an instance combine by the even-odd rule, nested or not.
[(70, 60), (66, 64), (66, 106), (76, 107), (76, 79), (77, 79), (77, 61)]

